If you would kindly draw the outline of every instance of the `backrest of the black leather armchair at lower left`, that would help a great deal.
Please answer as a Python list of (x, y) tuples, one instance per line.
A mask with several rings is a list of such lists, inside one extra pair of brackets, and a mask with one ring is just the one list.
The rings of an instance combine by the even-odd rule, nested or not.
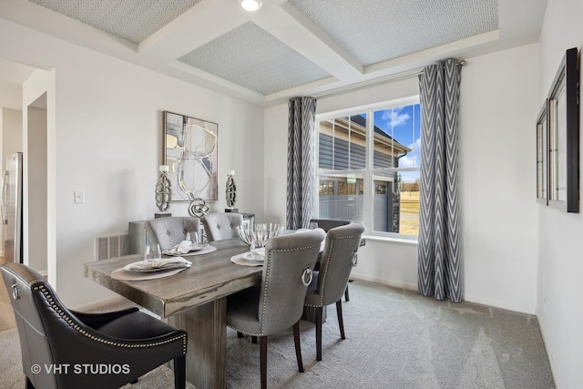
[[(49, 341), (51, 318), (53, 322), (62, 320), (50, 306), (60, 302), (47, 301), (46, 293), (55, 296), (55, 292), (38, 272), (26, 265), (8, 262), (2, 265), (8, 297), (15, 312), (16, 327), (20, 337), (22, 364), (24, 372), (32, 372), (33, 365), (42, 367), (38, 374), (26, 374), (36, 388), (57, 388), (56, 374), (47, 374), (44, 366), (54, 364), (52, 347)], [(64, 307), (63, 307), (64, 308)]]

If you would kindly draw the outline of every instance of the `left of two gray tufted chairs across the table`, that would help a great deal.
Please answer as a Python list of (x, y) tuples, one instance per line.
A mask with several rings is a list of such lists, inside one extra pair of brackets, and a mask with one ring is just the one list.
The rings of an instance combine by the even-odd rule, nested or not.
[(159, 243), (160, 249), (166, 250), (184, 241), (187, 232), (200, 234), (200, 220), (189, 216), (148, 220), (146, 230), (149, 241)]

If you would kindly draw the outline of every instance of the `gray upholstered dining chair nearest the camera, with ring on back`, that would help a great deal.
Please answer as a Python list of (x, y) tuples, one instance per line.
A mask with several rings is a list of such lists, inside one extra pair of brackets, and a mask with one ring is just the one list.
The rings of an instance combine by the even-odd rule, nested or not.
[(293, 327), (298, 370), (303, 373), (300, 318), (313, 265), (325, 237), (321, 229), (271, 238), (265, 246), (261, 285), (227, 298), (227, 325), (260, 339), (261, 389), (267, 386), (267, 336)]

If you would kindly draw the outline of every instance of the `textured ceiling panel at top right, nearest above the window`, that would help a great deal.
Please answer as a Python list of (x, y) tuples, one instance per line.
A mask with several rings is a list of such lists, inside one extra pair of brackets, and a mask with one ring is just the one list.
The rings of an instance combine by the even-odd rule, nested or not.
[(290, 0), (363, 66), (498, 28), (497, 0)]

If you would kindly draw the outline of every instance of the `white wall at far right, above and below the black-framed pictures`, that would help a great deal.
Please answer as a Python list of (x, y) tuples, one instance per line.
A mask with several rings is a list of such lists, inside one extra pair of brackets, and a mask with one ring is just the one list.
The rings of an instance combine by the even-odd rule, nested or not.
[[(540, 36), (539, 104), (547, 97), (565, 51), (571, 47), (582, 48), (581, 15), (583, 2), (579, 0), (548, 0)], [(579, 112), (580, 104), (579, 100)], [(583, 118), (580, 113), (579, 118)], [(583, 123), (579, 123), (579, 128), (583, 128)], [(580, 140), (583, 141), (583, 137)], [(579, 157), (579, 163), (582, 162)], [(543, 206), (538, 206), (537, 212), (537, 315), (557, 388), (579, 388), (583, 383), (583, 304), (579, 298), (583, 274), (583, 216), (581, 213), (568, 214)]]

